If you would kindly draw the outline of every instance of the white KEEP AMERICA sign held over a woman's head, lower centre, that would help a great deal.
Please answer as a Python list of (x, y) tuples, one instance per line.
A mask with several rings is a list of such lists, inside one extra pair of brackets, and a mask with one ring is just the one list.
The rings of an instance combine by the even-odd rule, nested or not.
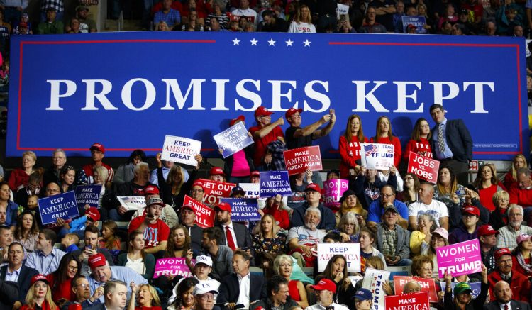
[(318, 243), (318, 272), (325, 270), (334, 255), (343, 255), (348, 272), (360, 272), (360, 243)]

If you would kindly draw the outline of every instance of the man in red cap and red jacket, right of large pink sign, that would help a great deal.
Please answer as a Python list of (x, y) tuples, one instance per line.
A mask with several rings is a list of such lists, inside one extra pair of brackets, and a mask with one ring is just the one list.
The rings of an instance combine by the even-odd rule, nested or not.
[(514, 299), (520, 301), (530, 301), (530, 282), (521, 273), (512, 270), (511, 252), (507, 248), (500, 248), (495, 251), (495, 270), (488, 275), (489, 298), (495, 300), (493, 288), (499, 281), (506, 281), (510, 284)]

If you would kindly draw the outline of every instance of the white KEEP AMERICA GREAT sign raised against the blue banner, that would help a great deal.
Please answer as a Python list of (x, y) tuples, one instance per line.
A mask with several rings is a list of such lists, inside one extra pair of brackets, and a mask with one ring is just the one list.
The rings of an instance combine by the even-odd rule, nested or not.
[(201, 141), (166, 135), (165, 145), (162, 145), (161, 159), (195, 166), (198, 162), (194, 156), (199, 154), (200, 150)]

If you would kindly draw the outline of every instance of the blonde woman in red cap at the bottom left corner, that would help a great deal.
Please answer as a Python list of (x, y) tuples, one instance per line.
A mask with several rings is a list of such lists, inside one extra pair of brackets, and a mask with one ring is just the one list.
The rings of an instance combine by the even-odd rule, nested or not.
[(56, 310), (58, 309), (52, 300), (50, 282), (44, 275), (35, 275), (31, 278), (31, 287), (26, 295), (21, 310)]

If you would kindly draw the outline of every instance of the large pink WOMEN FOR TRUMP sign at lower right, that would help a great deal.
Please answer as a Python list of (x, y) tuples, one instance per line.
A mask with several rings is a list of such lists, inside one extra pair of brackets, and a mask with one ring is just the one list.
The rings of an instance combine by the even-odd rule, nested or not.
[(436, 260), (438, 260), (438, 277), (440, 278), (443, 278), (445, 272), (456, 277), (482, 271), (478, 239), (437, 248)]

